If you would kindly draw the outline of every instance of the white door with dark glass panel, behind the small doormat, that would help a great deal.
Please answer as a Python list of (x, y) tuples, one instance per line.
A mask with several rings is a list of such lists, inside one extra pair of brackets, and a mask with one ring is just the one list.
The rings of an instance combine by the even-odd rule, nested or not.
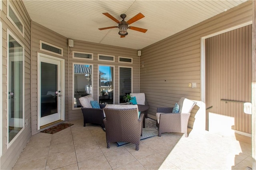
[(62, 59), (38, 55), (38, 129), (64, 120)]

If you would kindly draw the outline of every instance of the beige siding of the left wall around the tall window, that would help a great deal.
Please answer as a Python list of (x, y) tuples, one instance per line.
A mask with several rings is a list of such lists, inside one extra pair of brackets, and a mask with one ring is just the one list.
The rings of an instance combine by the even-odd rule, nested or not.
[[(30, 18), (26, 12), (24, 4), (22, 1), (9, 1), (12, 4), (14, 10), (22, 20), (24, 24), (24, 37), (20, 32), (12, 25), (8, 20), (7, 16), (7, 1), (3, 0), (2, 11), (0, 11), (0, 18), (2, 22), (2, 156), (0, 160), (1, 169), (11, 169), (16, 162), (18, 156), (22, 152), (26, 143), (31, 137), (31, 106), (30, 106)], [(7, 29), (12, 32), (15, 37), (24, 45), (24, 120), (28, 119), (28, 126), (19, 134), (18, 138), (12, 143), (12, 145), (7, 149)], [(11, 158), (11, 159), (10, 159)]]

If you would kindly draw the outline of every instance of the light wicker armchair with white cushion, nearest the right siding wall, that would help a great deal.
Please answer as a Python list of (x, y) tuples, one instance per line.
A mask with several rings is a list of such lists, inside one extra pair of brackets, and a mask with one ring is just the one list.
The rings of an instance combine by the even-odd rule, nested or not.
[(178, 102), (179, 113), (172, 113), (173, 107), (158, 107), (156, 113), (156, 125), (158, 127), (158, 136), (167, 132), (184, 133), (188, 137), (188, 119), (190, 112), (196, 105), (196, 102), (181, 98)]

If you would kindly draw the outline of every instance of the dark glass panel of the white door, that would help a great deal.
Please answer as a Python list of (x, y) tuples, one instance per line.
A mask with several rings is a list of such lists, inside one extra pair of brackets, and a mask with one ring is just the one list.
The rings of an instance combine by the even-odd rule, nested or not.
[(58, 65), (41, 62), (41, 117), (58, 112)]

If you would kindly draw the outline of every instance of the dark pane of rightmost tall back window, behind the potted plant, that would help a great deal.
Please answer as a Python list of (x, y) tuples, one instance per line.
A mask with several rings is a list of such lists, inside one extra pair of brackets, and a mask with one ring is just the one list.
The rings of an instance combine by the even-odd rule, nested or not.
[(119, 102), (126, 103), (123, 97), (126, 94), (130, 94), (132, 91), (132, 68), (119, 68), (119, 85), (120, 85), (120, 96)]

